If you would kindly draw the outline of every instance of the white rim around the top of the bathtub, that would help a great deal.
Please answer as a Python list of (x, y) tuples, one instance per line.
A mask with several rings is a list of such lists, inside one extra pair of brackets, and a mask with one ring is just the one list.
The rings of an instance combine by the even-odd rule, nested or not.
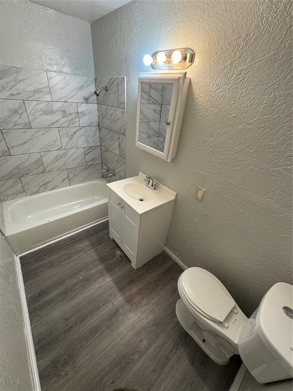
[[(44, 191), (44, 192), (38, 193), (38, 194), (28, 195), (27, 197), (22, 197), (22, 198), (11, 200), (11, 201), (5, 201), (3, 203), (3, 211), (4, 211), (5, 222), (6, 222), (6, 236), (14, 235), (14, 234), (29, 230), (31, 228), (45, 226), (46, 224), (49, 224), (51, 221), (64, 218), (68, 215), (71, 215), (71, 214), (74, 214), (77, 212), (77, 210), (73, 209), (71, 211), (66, 211), (63, 213), (56, 214), (50, 218), (32, 221), (30, 223), (25, 224), (25, 223), (19, 223), (19, 222), (12, 221), (9, 217), (10, 208), (13, 207), (13, 205), (15, 205), (16, 203), (23, 201), (23, 200), (26, 200), (28, 197), (30, 197), (30, 199), (34, 199), (36, 197), (39, 198), (42, 195), (50, 195), (52, 193), (52, 191), (59, 192), (59, 191), (62, 191), (64, 189), (68, 189), (68, 188), (70, 188), (74, 191), (74, 188), (76, 188), (76, 187), (82, 187), (82, 185), (84, 186), (86, 184), (97, 183), (97, 182), (98, 183), (105, 183), (105, 184), (107, 183), (104, 179), (97, 179), (95, 181), (78, 183), (77, 185), (61, 187), (59, 189), (54, 189), (54, 190), (50, 190), (50, 191)], [(107, 198), (104, 198), (104, 199), (98, 200), (96, 202), (90, 203), (88, 205), (85, 205), (85, 206), (79, 208), (78, 211), (90, 209), (90, 208), (93, 208), (95, 206), (102, 205), (105, 203), (107, 203)]]

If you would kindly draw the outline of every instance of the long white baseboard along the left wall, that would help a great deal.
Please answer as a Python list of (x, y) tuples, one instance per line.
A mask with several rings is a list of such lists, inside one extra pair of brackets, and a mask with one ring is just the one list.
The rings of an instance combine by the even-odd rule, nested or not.
[(21, 307), (22, 307), (25, 338), (26, 338), (26, 344), (28, 350), (28, 358), (30, 359), (34, 391), (41, 391), (37, 359), (36, 359), (36, 353), (35, 353), (35, 347), (34, 347), (34, 341), (33, 341), (32, 329), (31, 329), (30, 315), (28, 314), (20, 260), (19, 257), (17, 257), (16, 255), (14, 257), (15, 257), (15, 268), (17, 274), (18, 289), (20, 293), (20, 300), (21, 300)]

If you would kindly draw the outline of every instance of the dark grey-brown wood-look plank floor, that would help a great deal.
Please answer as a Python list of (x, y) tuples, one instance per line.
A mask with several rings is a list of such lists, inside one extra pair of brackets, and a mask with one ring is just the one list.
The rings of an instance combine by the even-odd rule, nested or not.
[(161, 253), (134, 270), (102, 223), (21, 257), (42, 391), (228, 391), (179, 324), (182, 269)]

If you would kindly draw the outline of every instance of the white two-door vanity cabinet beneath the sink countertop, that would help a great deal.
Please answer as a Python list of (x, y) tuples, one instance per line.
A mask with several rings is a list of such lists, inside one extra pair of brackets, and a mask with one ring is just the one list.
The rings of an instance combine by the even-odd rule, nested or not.
[(130, 206), (126, 198), (109, 187), (115, 187), (117, 183), (107, 185), (109, 235), (119, 244), (136, 269), (164, 249), (175, 197), (140, 213)]

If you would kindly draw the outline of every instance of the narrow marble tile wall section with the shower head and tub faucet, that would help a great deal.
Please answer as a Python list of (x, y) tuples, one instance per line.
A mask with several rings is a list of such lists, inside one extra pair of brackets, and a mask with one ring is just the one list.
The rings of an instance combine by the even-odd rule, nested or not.
[(98, 77), (96, 89), (103, 169), (125, 178), (125, 77)]

